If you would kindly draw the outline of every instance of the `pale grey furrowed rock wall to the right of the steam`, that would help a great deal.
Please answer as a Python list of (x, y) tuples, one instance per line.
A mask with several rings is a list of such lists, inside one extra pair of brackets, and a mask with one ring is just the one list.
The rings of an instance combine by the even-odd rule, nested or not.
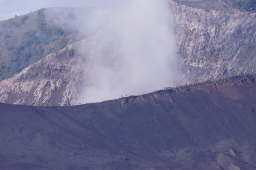
[(204, 1), (186, 5), (170, 1), (177, 22), (182, 80), (256, 71), (256, 13), (218, 8), (221, 5), (216, 2), (204, 9)]

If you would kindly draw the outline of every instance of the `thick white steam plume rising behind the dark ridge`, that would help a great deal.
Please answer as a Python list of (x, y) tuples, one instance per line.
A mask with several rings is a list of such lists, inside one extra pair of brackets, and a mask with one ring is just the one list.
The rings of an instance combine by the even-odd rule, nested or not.
[(86, 85), (78, 101), (105, 101), (174, 85), (176, 51), (168, 1), (129, 0), (106, 16), (92, 23), (106, 24), (91, 38), (94, 43), (83, 63)]

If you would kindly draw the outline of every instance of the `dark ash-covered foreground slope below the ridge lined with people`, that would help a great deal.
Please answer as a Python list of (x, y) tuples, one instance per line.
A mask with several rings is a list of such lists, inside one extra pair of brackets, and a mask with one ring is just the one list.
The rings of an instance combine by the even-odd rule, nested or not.
[(256, 75), (82, 106), (0, 104), (1, 169), (255, 169)]

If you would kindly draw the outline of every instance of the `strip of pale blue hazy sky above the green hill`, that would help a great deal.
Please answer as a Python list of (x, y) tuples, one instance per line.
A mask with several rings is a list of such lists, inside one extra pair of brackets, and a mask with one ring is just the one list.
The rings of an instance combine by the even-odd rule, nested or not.
[(118, 0), (0, 0), (0, 20), (54, 6), (108, 6)]

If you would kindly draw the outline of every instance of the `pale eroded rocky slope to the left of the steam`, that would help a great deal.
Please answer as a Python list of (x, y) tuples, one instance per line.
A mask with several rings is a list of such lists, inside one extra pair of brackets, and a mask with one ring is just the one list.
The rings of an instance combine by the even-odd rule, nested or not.
[[(82, 41), (81, 41), (82, 42)], [(79, 43), (81, 43), (79, 42)], [(83, 44), (83, 43), (81, 43)], [(76, 43), (52, 53), (8, 80), (0, 81), (0, 102), (35, 106), (71, 104), (83, 82), (74, 57)]]

